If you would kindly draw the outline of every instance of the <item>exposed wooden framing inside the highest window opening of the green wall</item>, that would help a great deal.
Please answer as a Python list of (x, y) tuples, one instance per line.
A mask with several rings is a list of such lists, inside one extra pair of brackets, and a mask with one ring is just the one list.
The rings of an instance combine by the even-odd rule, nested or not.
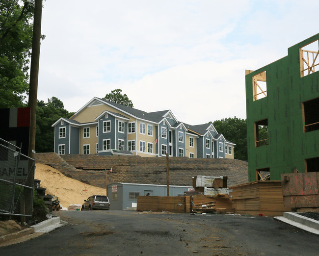
[[(308, 44), (311, 45), (317, 42), (318, 40)], [(307, 46), (307, 45), (305, 45)], [(303, 46), (303, 47), (305, 47)], [(302, 47), (302, 48), (303, 48)], [(300, 77), (307, 76), (309, 74), (315, 73), (315, 67), (319, 65), (319, 49), (318, 51), (309, 51), (303, 50), (302, 48), (299, 49), (299, 56), (300, 56)]]

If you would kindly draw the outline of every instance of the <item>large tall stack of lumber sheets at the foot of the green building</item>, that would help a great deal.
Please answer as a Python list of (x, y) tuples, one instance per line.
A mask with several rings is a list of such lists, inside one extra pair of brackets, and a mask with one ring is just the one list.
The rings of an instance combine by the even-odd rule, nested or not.
[(236, 213), (273, 217), (291, 211), (284, 206), (280, 180), (252, 181), (229, 189)]

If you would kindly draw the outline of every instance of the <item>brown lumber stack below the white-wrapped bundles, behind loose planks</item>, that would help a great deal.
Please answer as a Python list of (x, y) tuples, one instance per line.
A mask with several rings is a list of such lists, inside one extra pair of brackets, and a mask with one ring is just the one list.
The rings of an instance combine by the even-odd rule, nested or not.
[(192, 205), (194, 209), (194, 205), (199, 204), (208, 204), (212, 200), (214, 200), (215, 204), (215, 211), (221, 212), (221, 213), (234, 213), (235, 209), (233, 208), (232, 199), (229, 197), (229, 195), (225, 196), (194, 196), (192, 199)]

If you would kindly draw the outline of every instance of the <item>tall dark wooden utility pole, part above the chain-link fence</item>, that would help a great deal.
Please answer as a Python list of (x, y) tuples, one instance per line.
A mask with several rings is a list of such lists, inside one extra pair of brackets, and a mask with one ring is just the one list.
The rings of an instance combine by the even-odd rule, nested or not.
[(40, 60), (40, 39), (41, 39), (42, 0), (35, 0), (33, 18), (32, 53), (30, 67), (30, 88), (28, 107), (31, 108), (30, 136), (29, 136), (29, 157), (34, 159), (35, 153), (35, 121), (36, 102), (38, 94), (39, 60)]

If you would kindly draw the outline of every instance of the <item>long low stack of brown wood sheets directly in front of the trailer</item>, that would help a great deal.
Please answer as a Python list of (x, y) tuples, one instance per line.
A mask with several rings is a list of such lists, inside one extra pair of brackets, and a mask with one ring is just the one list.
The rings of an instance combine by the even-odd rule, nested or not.
[(137, 197), (137, 211), (170, 211), (189, 213), (191, 211), (190, 196), (182, 197), (159, 197), (139, 196)]

